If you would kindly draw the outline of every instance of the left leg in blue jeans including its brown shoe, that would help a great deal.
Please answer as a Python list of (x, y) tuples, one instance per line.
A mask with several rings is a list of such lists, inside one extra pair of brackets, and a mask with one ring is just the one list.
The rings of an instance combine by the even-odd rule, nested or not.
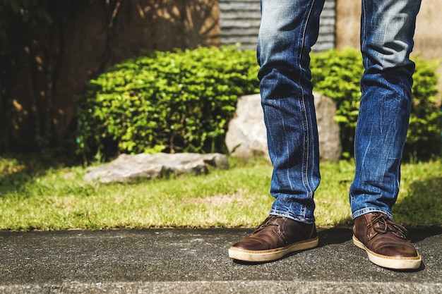
[(315, 247), (313, 193), (319, 185), (318, 130), (309, 52), (324, 0), (262, 0), (258, 37), (261, 97), (273, 163), (270, 216), (229, 256), (268, 261)]

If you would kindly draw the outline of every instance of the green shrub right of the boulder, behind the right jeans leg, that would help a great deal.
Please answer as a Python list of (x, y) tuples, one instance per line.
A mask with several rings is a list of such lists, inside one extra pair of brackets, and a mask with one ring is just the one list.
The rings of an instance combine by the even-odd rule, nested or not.
[[(441, 115), (436, 102), (437, 77), (434, 61), (414, 60), (412, 113), (405, 143), (405, 158), (428, 158), (438, 154), (441, 146)], [(332, 98), (337, 106), (343, 155), (353, 155), (354, 130), (357, 123), (361, 91), (359, 80), (364, 72), (362, 56), (355, 49), (330, 50), (311, 54), (314, 89)]]

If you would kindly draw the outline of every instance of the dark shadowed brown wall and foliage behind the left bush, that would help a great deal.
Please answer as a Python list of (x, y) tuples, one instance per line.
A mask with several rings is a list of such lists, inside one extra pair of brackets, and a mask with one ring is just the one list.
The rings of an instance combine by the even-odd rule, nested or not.
[(0, 152), (75, 156), (73, 97), (140, 54), (219, 44), (217, 0), (0, 0)]

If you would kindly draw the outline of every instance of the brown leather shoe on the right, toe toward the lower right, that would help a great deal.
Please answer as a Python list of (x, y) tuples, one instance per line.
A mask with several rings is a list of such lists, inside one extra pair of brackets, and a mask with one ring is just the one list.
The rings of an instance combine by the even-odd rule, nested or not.
[(353, 243), (380, 267), (417, 269), (421, 265), (419, 253), (407, 240), (407, 230), (381, 212), (354, 219)]

